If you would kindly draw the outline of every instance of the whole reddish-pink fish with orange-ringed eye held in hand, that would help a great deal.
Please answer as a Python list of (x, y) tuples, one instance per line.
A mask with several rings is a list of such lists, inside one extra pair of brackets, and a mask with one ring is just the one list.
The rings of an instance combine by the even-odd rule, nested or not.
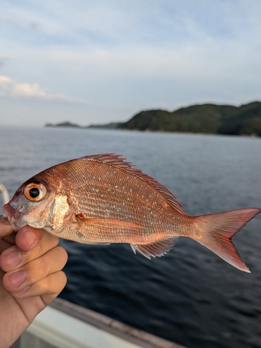
[(3, 212), (15, 231), (32, 226), (74, 242), (127, 243), (147, 258), (189, 237), (250, 273), (231, 239), (261, 209), (191, 216), (163, 184), (126, 159), (102, 153), (47, 168), (24, 182)]

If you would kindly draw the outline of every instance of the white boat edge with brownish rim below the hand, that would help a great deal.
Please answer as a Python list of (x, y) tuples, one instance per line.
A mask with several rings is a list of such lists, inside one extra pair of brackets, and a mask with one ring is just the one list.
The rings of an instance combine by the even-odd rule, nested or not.
[(184, 348), (61, 298), (35, 318), (12, 348)]

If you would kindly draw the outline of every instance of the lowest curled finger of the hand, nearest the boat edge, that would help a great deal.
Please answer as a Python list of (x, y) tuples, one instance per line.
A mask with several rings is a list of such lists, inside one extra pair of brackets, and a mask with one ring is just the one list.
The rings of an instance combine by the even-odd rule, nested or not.
[(45, 305), (49, 304), (63, 290), (67, 278), (63, 271), (57, 271), (42, 278), (33, 285), (25, 287), (19, 292), (11, 292), (15, 298), (26, 299), (32, 296), (42, 296)]

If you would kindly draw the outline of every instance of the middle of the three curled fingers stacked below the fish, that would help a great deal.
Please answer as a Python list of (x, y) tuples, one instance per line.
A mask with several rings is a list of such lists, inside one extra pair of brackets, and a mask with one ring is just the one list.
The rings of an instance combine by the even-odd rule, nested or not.
[(37, 283), (49, 274), (60, 271), (68, 260), (64, 248), (56, 246), (44, 255), (32, 260), (15, 271), (3, 276), (3, 286), (9, 292), (20, 292), (24, 288)]

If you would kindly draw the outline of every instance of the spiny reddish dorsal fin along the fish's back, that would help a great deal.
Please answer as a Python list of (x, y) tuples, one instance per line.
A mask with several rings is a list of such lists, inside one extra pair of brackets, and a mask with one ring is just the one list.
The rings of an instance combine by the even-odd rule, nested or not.
[(178, 212), (185, 214), (182, 206), (177, 201), (175, 196), (173, 196), (171, 191), (168, 191), (168, 189), (166, 189), (166, 187), (164, 187), (163, 184), (160, 184), (156, 179), (154, 179), (150, 175), (145, 174), (140, 169), (135, 168), (136, 166), (132, 164), (132, 162), (125, 161), (125, 159), (127, 159), (126, 157), (122, 157), (122, 155), (117, 155), (116, 153), (102, 153), (100, 155), (84, 156), (81, 157), (81, 159), (95, 159), (97, 161), (102, 161), (103, 163), (108, 163), (113, 166), (123, 168), (129, 173), (133, 173), (141, 177), (143, 180), (148, 182), (148, 184), (152, 185), (152, 187), (155, 187), (157, 191), (162, 193), (162, 195), (165, 196), (167, 200), (171, 203), (172, 207), (174, 207)]

